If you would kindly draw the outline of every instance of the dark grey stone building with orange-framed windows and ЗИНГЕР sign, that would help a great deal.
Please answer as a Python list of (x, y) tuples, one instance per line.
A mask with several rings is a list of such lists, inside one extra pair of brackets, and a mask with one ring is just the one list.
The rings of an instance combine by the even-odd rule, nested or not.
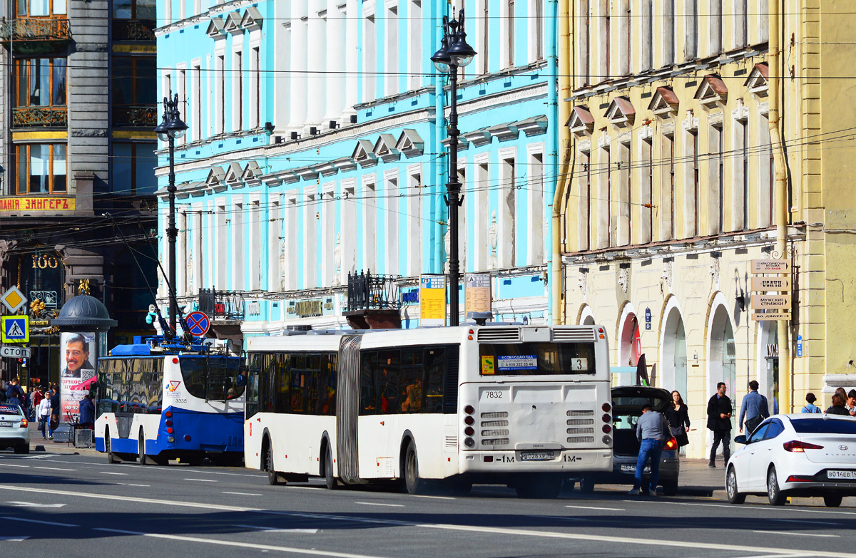
[(46, 383), (51, 311), (83, 280), (115, 339), (153, 332), (155, 0), (3, 0), (0, 18), (0, 291), (27, 297), (33, 348), (0, 377)]

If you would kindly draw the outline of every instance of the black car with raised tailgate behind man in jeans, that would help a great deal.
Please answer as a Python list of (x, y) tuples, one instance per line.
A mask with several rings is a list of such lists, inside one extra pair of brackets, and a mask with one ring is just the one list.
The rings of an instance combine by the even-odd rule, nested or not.
[[(580, 478), (580, 490), (591, 492), (595, 484), (633, 484), (636, 474), (636, 460), (639, 457), (639, 440), (636, 438), (636, 423), (642, 416), (645, 404), (660, 413), (669, 408), (672, 395), (661, 388), (647, 386), (619, 386), (612, 389), (612, 423), (615, 442), (613, 443), (612, 472), (593, 472)], [(678, 456), (678, 444), (675, 438), (667, 436), (663, 444), (663, 457), (660, 461), (659, 485), (663, 494), (674, 496), (678, 491), (678, 475), (681, 461)], [(648, 478), (651, 466), (645, 466), (643, 478)]]

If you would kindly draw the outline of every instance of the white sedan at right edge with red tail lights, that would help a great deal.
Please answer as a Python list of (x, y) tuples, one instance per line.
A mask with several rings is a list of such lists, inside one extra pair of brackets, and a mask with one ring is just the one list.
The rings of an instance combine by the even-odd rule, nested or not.
[(856, 496), (856, 419), (829, 414), (779, 414), (764, 420), (728, 461), (728, 502), (766, 494), (781, 506), (788, 496), (823, 496), (830, 508)]

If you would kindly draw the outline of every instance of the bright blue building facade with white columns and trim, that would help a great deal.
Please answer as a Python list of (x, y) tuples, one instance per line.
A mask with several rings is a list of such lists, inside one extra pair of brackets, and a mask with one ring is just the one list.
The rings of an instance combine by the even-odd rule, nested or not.
[[(235, 341), (345, 327), (348, 274), (372, 270), (400, 277), (402, 327), (418, 325), (419, 274), (448, 268), (449, 79), (430, 58), (449, 5), (205, 2), (158, 3), (159, 98), (177, 92), (189, 127), (175, 150), (180, 306), (228, 293), (215, 324)], [(536, 324), (557, 175), (550, 6), (464, 3), (479, 54), (457, 98), (461, 270), (491, 272), (497, 318)]]

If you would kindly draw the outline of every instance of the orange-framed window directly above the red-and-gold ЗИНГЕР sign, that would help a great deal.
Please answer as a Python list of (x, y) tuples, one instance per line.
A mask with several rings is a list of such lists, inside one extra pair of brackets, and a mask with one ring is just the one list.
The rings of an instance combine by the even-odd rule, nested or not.
[(68, 191), (68, 150), (65, 144), (15, 145), (18, 193)]

